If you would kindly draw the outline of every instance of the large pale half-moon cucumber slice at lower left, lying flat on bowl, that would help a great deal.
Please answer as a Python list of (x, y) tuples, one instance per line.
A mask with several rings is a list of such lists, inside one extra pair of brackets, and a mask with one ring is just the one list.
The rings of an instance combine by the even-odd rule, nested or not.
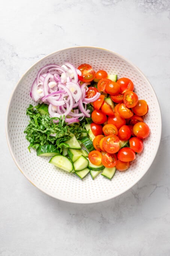
[(72, 172), (73, 171), (73, 164), (69, 160), (68, 157), (64, 157), (63, 155), (55, 155), (52, 157), (49, 161), (52, 165), (55, 165), (67, 172)]

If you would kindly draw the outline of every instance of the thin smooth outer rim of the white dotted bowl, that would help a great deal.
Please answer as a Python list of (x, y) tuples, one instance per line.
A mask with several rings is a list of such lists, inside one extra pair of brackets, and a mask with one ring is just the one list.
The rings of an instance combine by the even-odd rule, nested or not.
[(42, 57), (41, 59), (39, 59), (38, 61), (36, 61), (31, 67), (29, 67), (29, 69), (26, 70), (26, 72), (23, 73), (23, 75), (21, 75), (21, 78), (18, 80), (18, 82), (16, 83), (14, 89), (12, 90), (12, 93), (11, 93), (11, 96), (8, 100), (8, 104), (7, 104), (7, 107), (6, 107), (6, 120), (5, 120), (5, 133), (6, 133), (6, 140), (7, 140), (7, 144), (8, 144), (8, 148), (9, 148), (9, 151), (12, 155), (12, 158), (15, 162), (15, 165), (17, 166), (17, 168), (20, 170), (20, 172), (24, 175), (24, 177), (30, 181), (30, 183), (32, 183), (36, 188), (38, 188), (39, 190), (41, 190), (42, 192), (44, 192), (45, 194), (49, 195), (50, 197), (53, 197), (53, 198), (56, 198), (58, 200), (61, 200), (61, 201), (65, 201), (65, 202), (68, 202), (68, 203), (76, 203), (76, 204), (93, 204), (93, 203), (101, 203), (101, 202), (104, 202), (104, 201), (108, 201), (108, 200), (111, 200), (112, 198), (115, 198), (115, 197), (118, 197), (119, 195), (122, 195), (124, 194), (126, 191), (128, 191), (131, 187), (133, 187), (135, 184), (138, 183), (139, 180), (141, 180), (141, 178), (143, 178), (143, 176), (146, 174), (146, 172), (149, 170), (150, 166), (152, 165), (153, 161), (155, 160), (155, 157), (156, 157), (156, 154), (155, 154), (155, 157), (153, 158), (152, 162), (150, 163), (149, 167), (146, 169), (145, 172), (142, 173), (142, 175), (140, 177), (138, 177), (131, 185), (129, 185), (128, 187), (126, 187), (126, 189), (123, 190), (123, 192), (119, 192), (117, 193), (116, 195), (113, 195), (113, 196), (110, 196), (110, 197), (107, 197), (107, 198), (104, 198), (104, 199), (99, 199), (99, 200), (95, 200), (95, 201), (90, 201), (90, 202), (86, 202), (86, 201), (71, 201), (71, 200), (66, 200), (66, 199), (61, 199), (59, 197), (55, 197), (49, 193), (47, 193), (46, 191), (44, 191), (43, 189), (39, 188), (38, 186), (36, 186), (28, 177), (27, 175), (22, 171), (22, 169), (20, 168), (19, 166), (19, 163), (17, 162), (17, 160), (15, 159), (15, 156), (13, 154), (13, 151), (12, 151), (12, 148), (11, 148), (11, 145), (10, 145), (10, 140), (9, 140), (9, 135), (8, 135), (8, 116), (9, 116), (9, 105), (11, 103), (11, 100), (12, 100), (12, 97), (15, 93), (15, 90), (17, 89), (18, 87), (18, 84), (21, 82), (21, 80), (23, 79), (23, 77), (25, 75), (27, 75), (27, 73), (30, 72), (30, 70), (36, 66), (39, 62), (41, 62), (43, 59), (45, 58), (49, 58), (50, 56), (53, 56), (55, 54), (57, 54), (58, 52), (62, 52), (64, 50), (69, 50), (69, 49), (75, 49), (75, 48), (93, 48), (93, 49), (99, 49), (99, 50), (104, 50), (106, 52), (110, 52), (122, 59), (124, 59), (126, 62), (128, 62), (129, 64), (131, 64), (133, 67), (135, 67), (137, 69), (137, 71), (142, 75), (144, 76), (144, 78), (146, 79), (146, 81), (149, 83), (150, 85), (150, 88), (152, 89), (153, 91), (153, 94), (155, 95), (156, 99), (157, 99), (157, 102), (158, 102), (158, 107), (159, 107), (159, 116), (160, 116), (160, 126), (159, 126), (159, 134), (158, 134), (158, 148), (157, 148), (157, 151), (156, 151), (156, 154), (158, 153), (158, 149), (159, 149), (159, 146), (160, 146), (160, 142), (161, 142), (161, 134), (162, 134), (162, 115), (161, 115), (161, 108), (160, 108), (160, 104), (159, 104), (159, 100), (158, 100), (158, 97), (156, 96), (156, 93), (155, 93), (155, 90), (153, 89), (152, 85), (150, 84), (149, 80), (147, 79), (147, 77), (144, 75), (143, 72), (141, 72), (141, 70), (135, 66), (131, 61), (129, 61), (128, 59), (126, 59), (125, 57), (123, 57), (122, 55), (120, 55), (119, 53), (116, 53), (114, 51), (111, 51), (111, 50), (108, 50), (108, 49), (105, 49), (105, 48), (102, 48), (102, 47), (96, 47), (96, 46), (72, 46), (72, 47), (66, 47), (66, 48), (63, 48), (63, 49), (59, 49), (55, 52), (52, 52), (48, 55), (45, 55), (44, 57)]

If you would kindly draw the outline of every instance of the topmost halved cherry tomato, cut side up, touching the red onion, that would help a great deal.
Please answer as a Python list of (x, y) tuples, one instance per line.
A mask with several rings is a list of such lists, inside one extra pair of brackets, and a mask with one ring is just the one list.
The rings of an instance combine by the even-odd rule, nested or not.
[(89, 64), (82, 64), (78, 69), (81, 71), (81, 76), (78, 75), (80, 81), (91, 82), (95, 78), (95, 71)]

